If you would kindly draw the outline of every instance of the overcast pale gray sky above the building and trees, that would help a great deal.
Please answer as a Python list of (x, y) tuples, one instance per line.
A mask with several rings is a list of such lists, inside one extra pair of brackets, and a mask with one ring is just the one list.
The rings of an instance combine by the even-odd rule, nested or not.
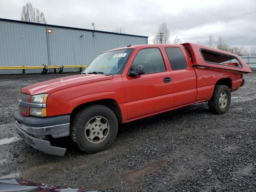
[[(20, 20), (28, 0), (0, 0), (0, 18)], [(30, 0), (47, 24), (148, 36), (167, 23), (171, 40), (204, 42), (209, 35), (230, 46), (256, 47), (256, 0)]]

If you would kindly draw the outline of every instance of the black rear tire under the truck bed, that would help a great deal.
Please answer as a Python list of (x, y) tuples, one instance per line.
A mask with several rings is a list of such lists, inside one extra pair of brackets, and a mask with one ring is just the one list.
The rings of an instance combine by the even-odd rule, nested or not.
[[(221, 107), (219, 99), (222, 93), (226, 93), (228, 102), (225, 102), (226, 105), (224, 107)], [(211, 100), (208, 101), (209, 109), (214, 112), (215, 114), (223, 114), (227, 112), (231, 102), (231, 94), (230, 94), (230, 88), (226, 85), (216, 85), (214, 88), (214, 92), (212, 94)]]

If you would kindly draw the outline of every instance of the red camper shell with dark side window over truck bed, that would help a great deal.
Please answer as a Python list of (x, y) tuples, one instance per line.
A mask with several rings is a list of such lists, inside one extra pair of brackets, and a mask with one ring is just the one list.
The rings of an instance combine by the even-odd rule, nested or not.
[(252, 73), (246, 62), (235, 54), (193, 43), (182, 43), (181, 45), (186, 48), (193, 66)]

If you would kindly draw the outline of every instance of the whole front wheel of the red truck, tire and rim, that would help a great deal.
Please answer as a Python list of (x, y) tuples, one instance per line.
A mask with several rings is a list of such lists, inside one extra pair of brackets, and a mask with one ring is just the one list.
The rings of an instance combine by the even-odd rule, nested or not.
[(114, 112), (104, 105), (92, 105), (74, 116), (70, 135), (80, 150), (95, 153), (108, 148), (117, 131), (118, 121)]

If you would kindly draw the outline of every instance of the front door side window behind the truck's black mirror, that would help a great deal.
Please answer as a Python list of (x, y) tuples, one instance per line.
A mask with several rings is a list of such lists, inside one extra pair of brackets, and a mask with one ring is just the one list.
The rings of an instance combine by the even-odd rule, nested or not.
[(140, 50), (134, 58), (132, 65), (143, 65), (145, 74), (166, 71), (162, 54), (158, 48)]

